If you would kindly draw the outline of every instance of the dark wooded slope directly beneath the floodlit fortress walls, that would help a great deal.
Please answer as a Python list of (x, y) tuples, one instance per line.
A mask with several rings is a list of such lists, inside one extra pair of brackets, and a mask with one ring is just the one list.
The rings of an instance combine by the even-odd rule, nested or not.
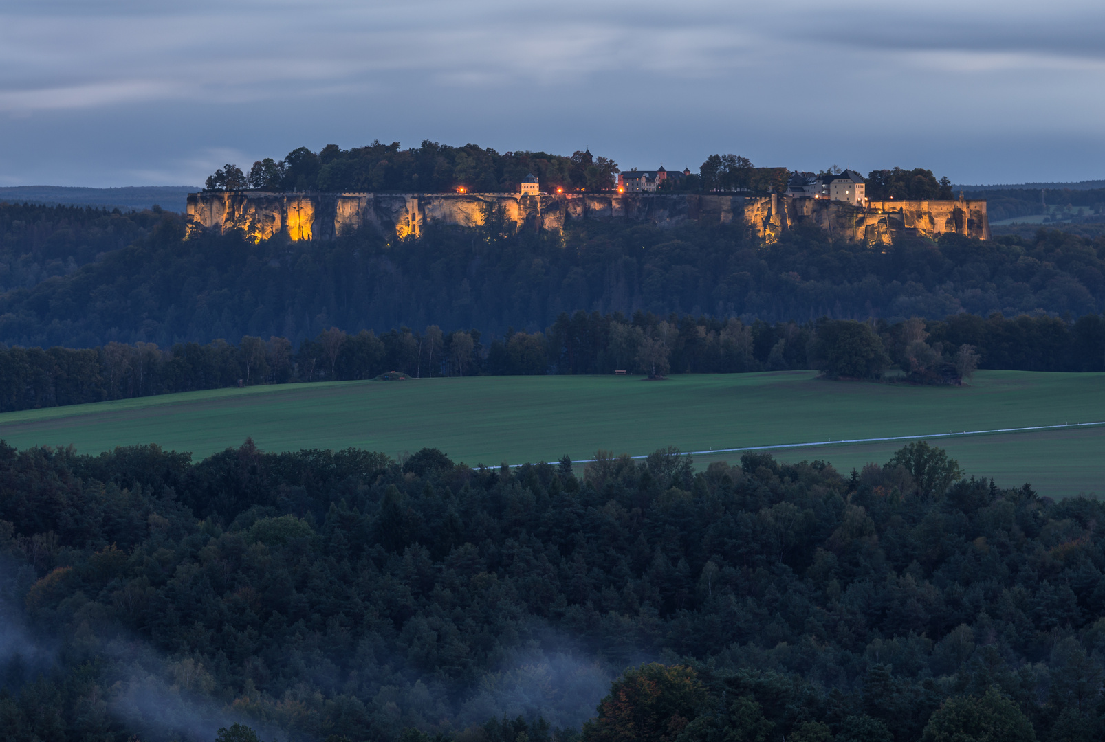
[[(366, 231), (251, 244), (235, 234), (186, 241), (181, 218), (143, 219), (148, 231), (133, 244), (90, 250), (82, 254), (95, 261), (0, 295), (0, 342), (169, 348), (277, 336), (298, 344), (330, 327), (382, 333), (429, 325), (502, 337), (512, 326), (544, 330), (576, 310), (802, 324), (962, 311), (1076, 318), (1105, 307), (1105, 237), (1054, 230), (989, 242), (903, 240), (885, 251), (813, 230), (765, 246), (736, 226), (597, 221), (562, 233), (435, 226), (421, 239)], [(57, 255), (69, 264), (71, 253)]]

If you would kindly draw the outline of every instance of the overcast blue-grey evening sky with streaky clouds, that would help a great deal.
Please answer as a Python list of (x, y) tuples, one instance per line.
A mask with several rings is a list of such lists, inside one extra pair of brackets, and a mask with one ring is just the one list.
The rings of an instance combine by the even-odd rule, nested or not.
[(306, 146), (1105, 178), (1102, 0), (0, 0), (0, 186)]

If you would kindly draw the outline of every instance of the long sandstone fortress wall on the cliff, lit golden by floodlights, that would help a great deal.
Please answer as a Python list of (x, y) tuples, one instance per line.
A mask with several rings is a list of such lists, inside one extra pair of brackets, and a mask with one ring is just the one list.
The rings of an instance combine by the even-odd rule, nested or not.
[(888, 244), (901, 234), (936, 237), (947, 232), (987, 240), (985, 201), (884, 201), (857, 208), (841, 201), (744, 197), (722, 193), (265, 193), (204, 192), (188, 197), (196, 227), (241, 229), (254, 240), (286, 233), (292, 240), (332, 240), (359, 229), (399, 236), (418, 235), (429, 223), (480, 226), (488, 218), (508, 229), (559, 230), (570, 220), (610, 219), (673, 226), (749, 226), (774, 242), (792, 225), (808, 222), (833, 239)]

